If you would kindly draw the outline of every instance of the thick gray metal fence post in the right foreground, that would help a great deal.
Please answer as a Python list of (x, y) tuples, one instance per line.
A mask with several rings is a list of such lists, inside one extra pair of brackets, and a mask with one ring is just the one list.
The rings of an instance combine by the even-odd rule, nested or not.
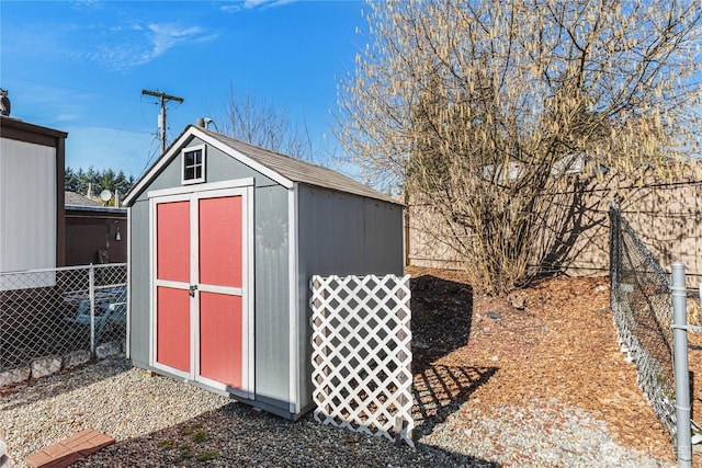
[(676, 372), (676, 415), (678, 466), (692, 466), (692, 434), (690, 424), (690, 374), (688, 370), (688, 317), (687, 289), (684, 285), (684, 264), (673, 263), (671, 266), (672, 293), (672, 339), (673, 364)]

